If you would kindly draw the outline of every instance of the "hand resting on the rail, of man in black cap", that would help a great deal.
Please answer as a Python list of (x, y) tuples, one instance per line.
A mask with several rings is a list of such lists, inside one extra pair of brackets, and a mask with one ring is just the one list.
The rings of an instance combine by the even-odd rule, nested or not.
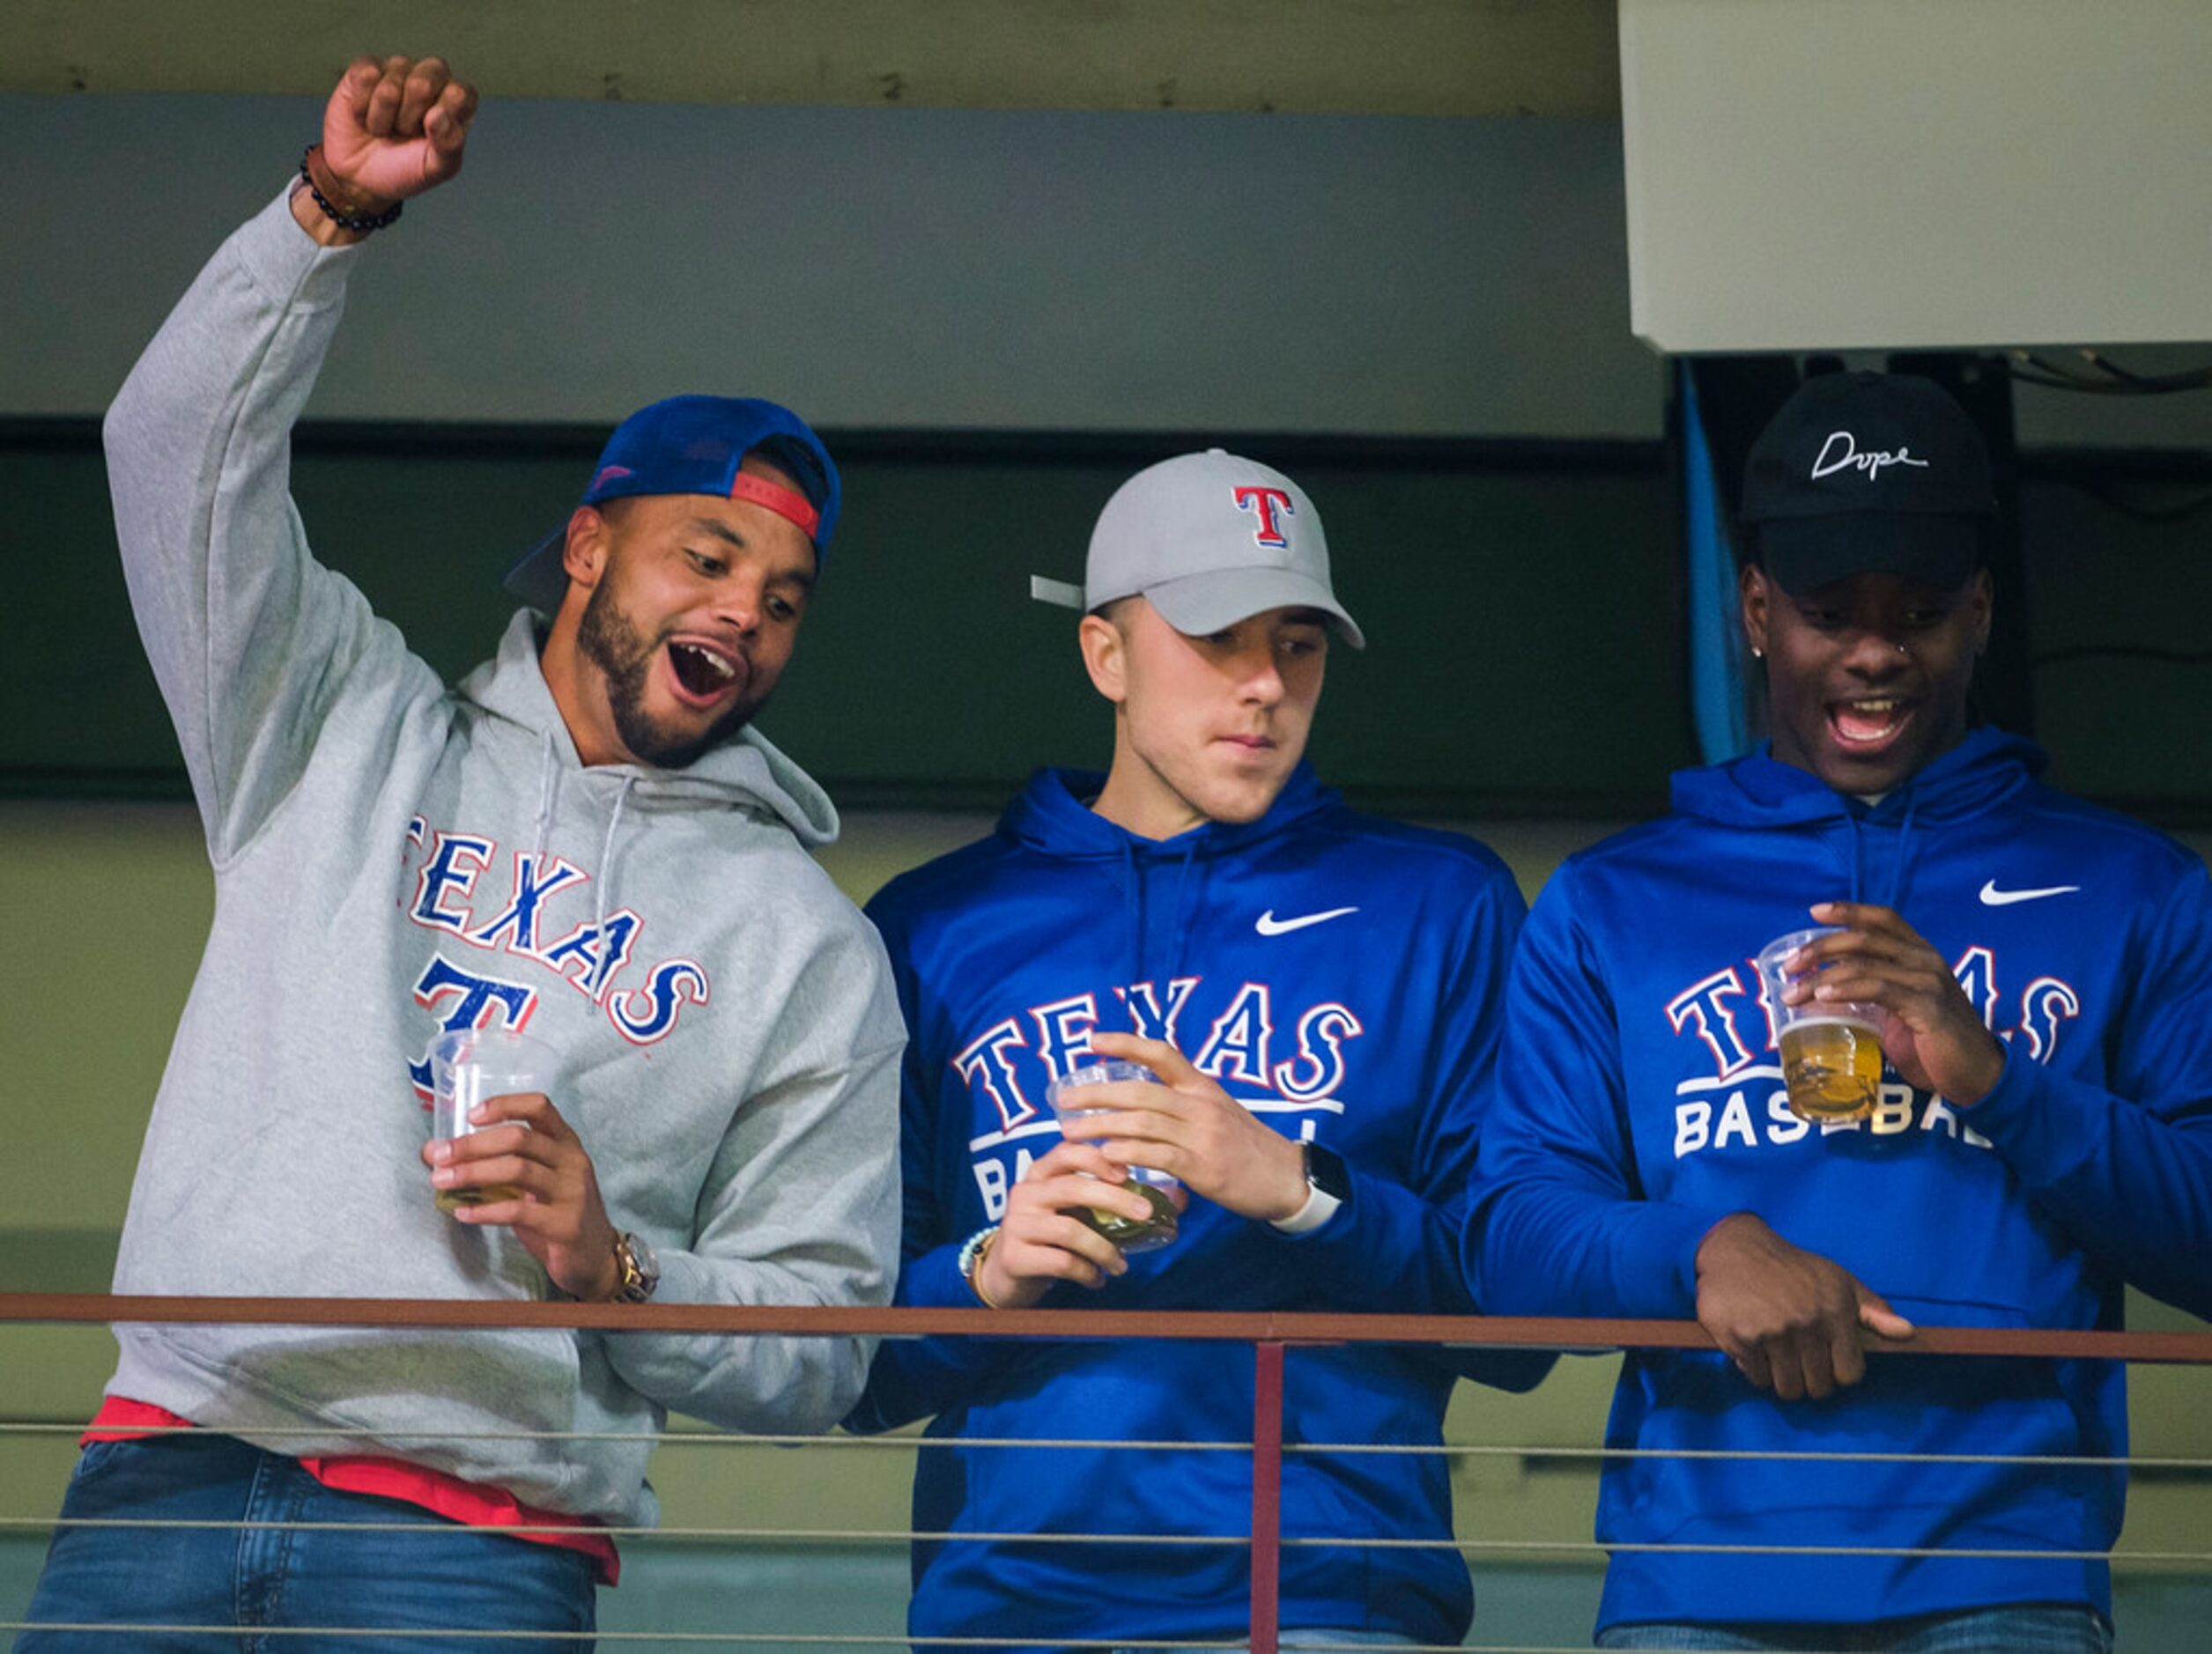
[(1721, 1218), (1697, 1247), (1697, 1320), (1752, 1384), (1785, 1402), (1865, 1378), (1860, 1327), (1913, 1336), (1880, 1294), (1750, 1212)]

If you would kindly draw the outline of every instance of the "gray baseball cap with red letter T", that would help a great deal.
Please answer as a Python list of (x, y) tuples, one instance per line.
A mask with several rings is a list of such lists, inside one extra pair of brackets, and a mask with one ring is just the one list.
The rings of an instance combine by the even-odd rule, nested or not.
[(1084, 613), (1141, 595), (1190, 637), (1267, 608), (1318, 608), (1367, 648), (1329, 588), (1329, 542), (1305, 489), (1221, 449), (1161, 460), (1115, 489), (1091, 528), (1084, 584), (1033, 575), (1029, 595)]

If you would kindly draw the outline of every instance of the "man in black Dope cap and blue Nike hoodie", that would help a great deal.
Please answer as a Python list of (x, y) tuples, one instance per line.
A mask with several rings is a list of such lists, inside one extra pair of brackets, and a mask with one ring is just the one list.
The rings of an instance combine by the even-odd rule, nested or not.
[[(2205, 865), (1973, 723), (1991, 511), (1931, 380), (1807, 380), (1743, 500), (1770, 743), (1674, 776), (1522, 938), (1471, 1276), (1719, 1344), (1626, 1358), (1601, 1647), (2110, 1645), (2119, 1364), (1863, 1353), (2119, 1327), (2126, 1285), (2212, 1311)], [(1887, 1059), (1854, 1119), (1792, 1112), (1752, 969), (1807, 924), (1781, 999), (1867, 1006)]]

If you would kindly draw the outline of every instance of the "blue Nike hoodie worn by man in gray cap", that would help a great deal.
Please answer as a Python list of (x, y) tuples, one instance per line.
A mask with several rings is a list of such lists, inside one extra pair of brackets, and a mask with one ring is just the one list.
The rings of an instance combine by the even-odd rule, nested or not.
[[(1172, 1245), (1046, 1307), (1469, 1311), (1458, 1236), (1522, 918), (1504, 865), (1360, 816), (1303, 765), (1259, 820), (1168, 840), (1093, 814), (1102, 783), (1037, 774), (991, 838), (869, 904), (911, 1030), (898, 1302), (975, 1305), (958, 1247), (1060, 1141), (1044, 1088), (1097, 1026), (1166, 1035), (1259, 1119), (1334, 1148), (1352, 1201), (1287, 1236), (1192, 1196)], [(1281, 1623), (1460, 1641), (1473, 1603), (1444, 1457), (1318, 1448), (1436, 1448), (1462, 1371), (1526, 1389), (1548, 1362), (1290, 1351)], [(1252, 1386), (1248, 1347), (885, 1340), (847, 1424), (933, 1415), (914, 1526), (949, 1535), (916, 1543), (911, 1632), (1241, 1641)]]

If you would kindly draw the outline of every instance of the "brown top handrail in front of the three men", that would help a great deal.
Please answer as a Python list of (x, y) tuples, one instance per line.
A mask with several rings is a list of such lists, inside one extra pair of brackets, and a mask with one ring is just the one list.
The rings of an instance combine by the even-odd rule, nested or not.
[[(783, 1305), (577, 1305), (509, 1298), (197, 1298), (73, 1291), (0, 1294), (0, 1325), (232, 1322), (279, 1327), (549, 1327), (635, 1333), (814, 1338), (1197, 1338), (1285, 1344), (1462, 1344), (1473, 1349), (1712, 1349), (1694, 1320), (1579, 1316), (1365, 1316), (1126, 1309), (818, 1309)], [(2212, 1367), (2212, 1331), (2117, 1333), (2033, 1327), (1922, 1327), (1900, 1355), (2044, 1355)]]

